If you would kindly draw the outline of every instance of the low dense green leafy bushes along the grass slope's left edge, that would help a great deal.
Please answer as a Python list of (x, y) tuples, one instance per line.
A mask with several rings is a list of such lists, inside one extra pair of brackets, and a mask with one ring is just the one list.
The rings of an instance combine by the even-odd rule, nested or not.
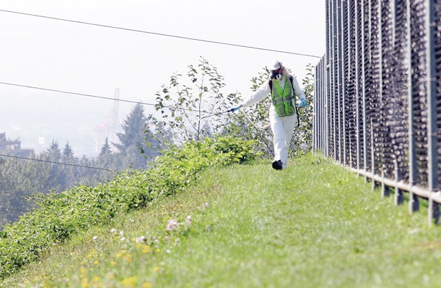
[(217, 137), (171, 146), (148, 170), (119, 173), (98, 186), (76, 186), (57, 194), (32, 197), (36, 210), (0, 231), (0, 278), (8, 277), (43, 250), (92, 225), (107, 223), (117, 213), (147, 206), (154, 199), (184, 191), (198, 171), (215, 165), (255, 159), (255, 142)]

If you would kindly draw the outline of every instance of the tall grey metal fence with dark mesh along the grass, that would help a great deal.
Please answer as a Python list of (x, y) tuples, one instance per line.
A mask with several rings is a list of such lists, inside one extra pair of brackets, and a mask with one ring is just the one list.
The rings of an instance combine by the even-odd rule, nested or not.
[(314, 151), (394, 191), (409, 213), (441, 203), (441, 0), (326, 0)]

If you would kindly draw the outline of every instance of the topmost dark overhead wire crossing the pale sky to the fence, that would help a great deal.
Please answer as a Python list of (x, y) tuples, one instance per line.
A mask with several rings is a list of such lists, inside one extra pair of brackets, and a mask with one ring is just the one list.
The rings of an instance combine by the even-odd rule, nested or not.
[(70, 19), (65, 19), (65, 18), (56, 18), (56, 17), (51, 17), (51, 16), (43, 16), (43, 15), (37, 15), (37, 14), (28, 14), (28, 13), (17, 12), (17, 11), (9, 11), (9, 10), (3, 10), (3, 9), (0, 9), (0, 11), (1, 12), (7, 12), (7, 13), (13, 13), (13, 14), (26, 15), (26, 16), (47, 18), (47, 19), (58, 20), (58, 21), (66, 21), (66, 22), (80, 23), (80, 24), (85, 24), (85, 25), (92, 25), (92, 26), (100, 26), (100, 27), (105, 27), (105, 28), (119, 29), (119, 30), (124, 30), (124, 31), (132, 31), (132, 32), (137, 32), (137, 33), (147, 33), (147, 34), (152, 34), (152, 35), (156, 35), (156, 36), (165, 36), (165, 37), (179, 38), (179, 39), (185, 39), (185, 40), (191, 40), (191, 41), (199, 41), (199, 42), (220, 44), (220, 45), (226, 45), (226, 46), (235, 46), (235, 47), (240, 47), (240, 48), (265, 50), (265, 51), (270, 51), (270, 52), (285, 53), (285, 54), (291, 54), (291, 55), (300, 55), (300, 56), (304, 56), (304, 57), (322, 58), (322, 56), (311, 55), (311, 54), (295, 53), (295, 52), (289, 52), (289, 51), (282, 51), (282, 50), (275, 50), (275, 49), (268, 49), (268, 48), (260, 48), (260, 47), (255, 47), (255, 46), (245, 46), (245, 45), (239, 45), (239, 44), (234, 44), (234, 43), (225, 43), (225, 42), (211, 41), (211, 40), (205, 40), (205, 39), (199, 39), (199, 38), (191, 38), (191, 37), (185, 37), (185, 36), (176, 36), (176, 35), (171, 35), (171, 34), (164, 34), (164, 33), (157, 33), (157, 32), (151, 32), (151, 31), (143, 31), (143, 30), (137, 30), (137, 29), (131, 29), (131, 28), (103, 25), (103, 24), (98, 24), (98, 23), (90, 23), (90, 22), (85, 22), (85, 21), (70, 20)]

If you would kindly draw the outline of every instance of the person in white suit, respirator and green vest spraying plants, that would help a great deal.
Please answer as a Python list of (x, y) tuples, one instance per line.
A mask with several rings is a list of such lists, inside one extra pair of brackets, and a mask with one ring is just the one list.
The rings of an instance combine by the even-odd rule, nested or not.
[(270, 125), (274, 135), (275, 154), (272, 168), (280, 170), (287, 167), (289, 143), (299, 120), (295, 97), (300, 100), (300, 107), (306, 107), (307, 101), (297, 79), (289, 75), (287, 68), (280, 61), (272, 63), (270, 70), (270, 78), (264, 85), (230, 111), (235, 112), (241, 107), (249, 107), (271, 95)]

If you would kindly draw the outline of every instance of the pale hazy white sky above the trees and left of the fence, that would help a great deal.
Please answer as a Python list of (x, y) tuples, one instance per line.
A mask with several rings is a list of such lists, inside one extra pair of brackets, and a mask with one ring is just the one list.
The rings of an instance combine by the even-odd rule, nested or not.
[[(0, 0), (0, 9), (322, 56), (326, 40), (325, 3), (324, 0)], [(225, 77), (225, 92), (242, 95), (250, 93), (250, 79), (272, 60), (281, 60), (300, 83), (307, 63), (319, 62), (319, 58), (1, 11), (0, 27), (0, 82), (103, 97), (113, 97), (115, 88), (119, 88), (121, 99), (149, 103), (154, 103), (154, 93), (169, 82), (174, 72), (186, 73), (187, 66), (197, 65), (200, 56)], [(104, 121), (112, 106), (110, 100), (0, 84), (0, 132), (6, 131), (11, 138), (21, 137), (23, 143), (32, 143), (23, 138), (23, 129), (38, 123), (40, 117), (64, 130), (72, 128), (63, 128), (63, 121), (83, 121), (87, 130)], [(121, 103), (120, 117), (124, 118), (132, 106)], [(152, 107), (145, 109), (147, 113), (153, 111)], [(63, 121), (55, 111), (63, 111)], [(11, 123), (17, 125), (11, 127)], [(71, 131), (72, 138), (75, 132)], [(65, 136), (56, 133), (52, 137), (65, 141)], [(69, 139), (69, 142), (75, 141)]]

